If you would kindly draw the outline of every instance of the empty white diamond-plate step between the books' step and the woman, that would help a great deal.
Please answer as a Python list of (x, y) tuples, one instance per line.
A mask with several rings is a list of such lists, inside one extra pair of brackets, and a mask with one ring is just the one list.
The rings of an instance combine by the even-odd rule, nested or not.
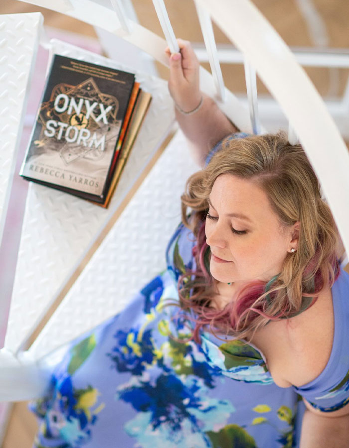
[(120, 311), (165, 269), (185, 181), (199, 169), (178, 131), (31, 346), (40, 358)]

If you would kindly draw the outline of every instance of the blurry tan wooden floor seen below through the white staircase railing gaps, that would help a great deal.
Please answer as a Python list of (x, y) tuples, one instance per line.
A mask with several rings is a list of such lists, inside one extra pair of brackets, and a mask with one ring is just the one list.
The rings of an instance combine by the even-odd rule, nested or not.
[[(302, 0), (301, 0), (302, 1)], [(254, 0), (256, 6), (269, 19), (290, 46), (313, 46), (314, 41), (308, 26), (297, 8), (296, 0)], [(142, 25), (163, 35), (151, 0), (133, 1), (139, 21)], [(313, 0), (313, 4), (326, 24), (328, 46), (336, 48), (349, 48), (349, 1), (348, 0)], [(192, 0), (166, 0), (171, 21), (176, 36), (199, 42), (202, 41), (196, 19)], [(78, 20), (52, 12), (48, 9), (16, 0), (0, 2), (0, 14), (41, 11), (44, 15), (44, 24), (62, 30), (79, 31), (79, 33), (96, 37), (92, 26)], [(234, 26), (232, 17), (231, 26)], [(247, 30), (248, 32), (248, 30)], [(217, 42), (227, 42), (225, 36), (215, 27)], [(162, 77), (168, 76), (164, 67), (158, 67)], [(341, 95), (348, 79), (348, 70), (309, 69), (309, 76), (322, 95)], [(223, 75), (227, 87), (233, 92), (245, 92), (244, 73), (242, 67), (223, 66)], [(335, 80), (335, 82), (334, 82)], [(264, 87), (259, 84), (259, 92)], [(7, 431), (2, 448), (30, 448), (37, 426), (33, 415), (27, 410), (26, 403), (13, 405), (9, 416)], [(101, 447), (104, 448), (104, 447)], [(105, 447), (107, 448), (107, 447)]]

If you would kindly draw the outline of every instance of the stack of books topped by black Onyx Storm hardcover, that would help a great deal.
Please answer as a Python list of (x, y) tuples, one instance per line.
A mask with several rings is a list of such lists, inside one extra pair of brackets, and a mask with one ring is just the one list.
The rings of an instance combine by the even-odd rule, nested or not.
[(151, 98), (132, 73), (55, 55), (20, 175), (108, 207)]

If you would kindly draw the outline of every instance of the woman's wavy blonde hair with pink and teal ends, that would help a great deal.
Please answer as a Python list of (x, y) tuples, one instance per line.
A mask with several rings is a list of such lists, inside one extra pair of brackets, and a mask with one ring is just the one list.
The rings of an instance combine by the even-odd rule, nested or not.
[[(212, 303), (216, 281), (209, 272), (206, 244), (207, 199), (215, 179), (231, 174), (263, 189), (282, 228), (300, 222), (299, 244), (286, 255), (282, 271), (268, 283), (253, 282), (240, 290), (224, 309)], [(193, 213), (188, 219), (188, 208)], [(291, 145), (283, 132), (226, 137), (208, 165), (189, 177), (181, 196), (182, 221), (195, 237), (195, 272), (178, 281), (181, 307), (195, 313), (193, 337), (199, 330), (251, 338), (270, 320), (291, 318), (309, 308), (339, 275), (343, 245), (329, 206), (322, 199), (319, 181), (301, 145)]]

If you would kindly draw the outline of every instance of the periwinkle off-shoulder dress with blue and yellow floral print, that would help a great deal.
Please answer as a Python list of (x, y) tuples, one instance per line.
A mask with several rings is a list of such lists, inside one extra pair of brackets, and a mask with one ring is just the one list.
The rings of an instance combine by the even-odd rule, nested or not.
[[(349, 402), (349, 275), (332, 288), (335, 334), (323, 372), (278, 387), (263, 354), (241, 340), (201, 333), (179, 307), (177, 281), (195, 269), (194, 237), (179, 224), (167, 269), (127, 308), (75, 340), (52, 372), (36, 448), (291, 448), (305, 397), (331, 412)], [(175, 263), (174, 263), (175, 259)]]

